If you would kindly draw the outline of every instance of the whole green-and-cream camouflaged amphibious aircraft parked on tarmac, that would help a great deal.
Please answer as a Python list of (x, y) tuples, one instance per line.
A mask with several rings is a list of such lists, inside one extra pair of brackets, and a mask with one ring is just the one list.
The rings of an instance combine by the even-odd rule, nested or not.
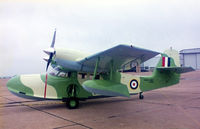
[(11, 78), (8, 90), (20, 97), (62, 100), (70, 109), (77, 108), (79, 100), (99, 96), (139, 94), (179, 83), (180, 67), (172, 57), (161, 54), (151, 76), (134, 76), (123, 72), (129, 62), (143, 63), (160, 54), (135, 46), (118, 45), (88, 56), (63, 48), (54, 48), (56, 31), (49, 49), (49, 65), (56, 71), (49, 74), (20, 75)]

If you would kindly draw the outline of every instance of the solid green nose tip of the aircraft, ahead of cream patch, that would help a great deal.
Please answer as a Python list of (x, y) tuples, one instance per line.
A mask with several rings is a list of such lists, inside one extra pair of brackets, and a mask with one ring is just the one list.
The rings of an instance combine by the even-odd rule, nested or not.
[(33, 95), (33, 91), (31, 88), (25, 86), (21, 80), (20, 76), (14, 76), (7, 82), (7, 88), (9, 91), (12, 93), (17, 93), (17, 94), (24, 94), (24, 95)]

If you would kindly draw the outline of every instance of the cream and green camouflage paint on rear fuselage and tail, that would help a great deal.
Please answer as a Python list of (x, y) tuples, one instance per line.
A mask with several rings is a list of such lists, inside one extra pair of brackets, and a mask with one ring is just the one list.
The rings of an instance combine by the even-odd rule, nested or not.
[[(127, 85), (130, 93), (140, 93), (144, 91), (154, 90), (162, 87), (172, 86), (179, 83), (180, 74), (171, 70), (159, 71), (157, 68), (162, 67), (162, 57), (168, 57), (166, 54), (161, 54), (161, 58), (151, 76), (133, 76), (122, 73), (121, 83)], [(170, 67), (176, 67), (174, 59), (171, 58)], [(138, 81), (136, 89), (131, 88), (131, 80)]]

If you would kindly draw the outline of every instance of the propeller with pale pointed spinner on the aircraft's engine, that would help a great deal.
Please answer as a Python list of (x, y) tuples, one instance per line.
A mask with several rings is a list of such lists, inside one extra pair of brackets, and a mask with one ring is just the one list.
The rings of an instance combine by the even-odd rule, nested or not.
[(54, 49), (55, 40), (56, 40), (56, 29), (54, 31), (54, 35), (53, 35), (53, 40), (52, 40), (51, 46), (49, 48), (43, 50), (46, 54), (49, 55), (49, 57), (44, 57), (43, 58), (45, 61), (47, 61), (46, 72), (47, 72), (47, 70), (49, 68), (49, 65), (50, 65), (51, 61), (52, 61), (53, 55), (55, 54), (55, 49)]

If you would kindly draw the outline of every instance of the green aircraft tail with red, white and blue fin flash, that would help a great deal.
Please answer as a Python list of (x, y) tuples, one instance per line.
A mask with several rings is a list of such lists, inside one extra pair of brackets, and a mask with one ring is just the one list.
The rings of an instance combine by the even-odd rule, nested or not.
[(180, 71), (181, 68), (176, 66), (172, 57), (161, 54), (152, 76), (140, 78), (140, 89), (144, 92), (177, 84), (180, 80)]

